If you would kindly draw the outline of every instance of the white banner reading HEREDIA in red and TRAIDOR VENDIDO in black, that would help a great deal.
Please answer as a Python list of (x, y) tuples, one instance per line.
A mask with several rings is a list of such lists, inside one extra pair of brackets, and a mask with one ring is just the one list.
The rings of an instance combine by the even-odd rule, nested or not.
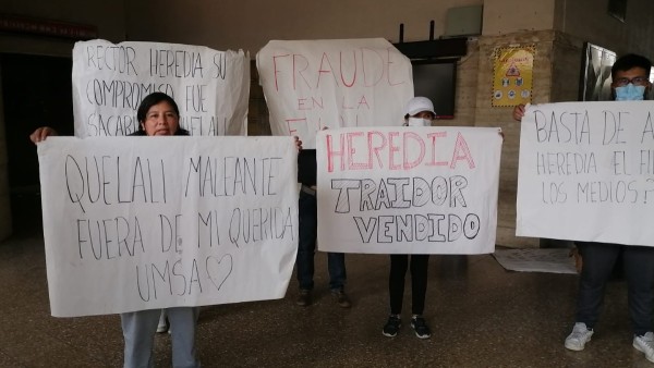
[(320, 132), (319, 249), (493, 253), (500, 152), (491, 127)]

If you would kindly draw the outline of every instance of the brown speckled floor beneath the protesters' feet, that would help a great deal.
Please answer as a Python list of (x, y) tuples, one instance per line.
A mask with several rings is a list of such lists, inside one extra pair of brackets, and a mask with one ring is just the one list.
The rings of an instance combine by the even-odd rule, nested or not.
[[(505, 271), (489, 255), (433, 256), (422, 341), (404, 323), (382, 335), (388, 257), (349, 255), (351, 309), (327, 291), (317, 254), (315, 303), (299, 307), (294, 280), (280, 300), (203, 307), (204, 367), (654, 367), (631, 346), (626, 285), (609, 284), (593, 341), (564, 348), (577, 275)], [(0, 367), (120, 367), (118, 316), (49, 315), (41, 235), (0, 243)], [(409, 291), (409, 287), (407, 289)], [(404, 320), (410, 295), (404, 299)], [(156, 366), (170, 366), (170, 338), (156, 338)]]

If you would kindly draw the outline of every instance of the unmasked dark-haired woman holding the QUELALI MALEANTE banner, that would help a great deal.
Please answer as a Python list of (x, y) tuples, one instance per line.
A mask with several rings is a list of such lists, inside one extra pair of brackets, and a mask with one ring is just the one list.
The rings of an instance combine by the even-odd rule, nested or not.
[[(162, 93), (146, 96), (136, 112), (138, 131), (133, 136), (189, 135), (179, 125), (180, 112), (174, 100)], [(35, 144), (57, 132), (48, 126), (37, 128), (29, 138)], [(195, 357), (195, 331), (199, 307), (166, 309), (172, 336), (172, 366), (199, 367)], [(153, 346), (161, 309), (147, 309), (120, 315), (124, 347), (124, 367), (152, 367)]]

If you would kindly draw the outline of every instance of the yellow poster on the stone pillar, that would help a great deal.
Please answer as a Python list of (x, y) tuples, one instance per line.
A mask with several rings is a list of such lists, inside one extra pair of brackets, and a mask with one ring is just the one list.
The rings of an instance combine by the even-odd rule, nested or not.
[(531, 102), (535, 45), (498, 47), (494, 51), (493, 106)]

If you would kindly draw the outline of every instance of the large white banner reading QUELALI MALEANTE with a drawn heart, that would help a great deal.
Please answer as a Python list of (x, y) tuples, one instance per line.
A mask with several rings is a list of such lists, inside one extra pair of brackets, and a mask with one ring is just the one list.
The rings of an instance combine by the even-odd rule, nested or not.
[(50, 137), (38, 156), (52, 316), (283, 297), (292, 138)]

